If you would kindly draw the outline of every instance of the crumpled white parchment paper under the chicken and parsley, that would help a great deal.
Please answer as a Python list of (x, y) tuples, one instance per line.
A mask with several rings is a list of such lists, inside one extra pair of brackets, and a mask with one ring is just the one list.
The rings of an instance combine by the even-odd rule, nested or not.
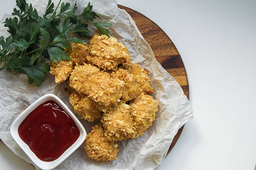
[[(30, 0), (39, 12), (45, 11), (47, 0)], [(58, 0), (52, 1), (55, 6)], [(67, 2), (67, 1), (66, 1)], [(77, 1), (77, 13), (81, 13), (88, 5), (88, 0)], [(70, 1), (71, 7), (75, 1)], [(159, 102), (159, 111), (151, 128), (142, 136), (127, 141), (118, 142), (117, 160), (98, 162), (88, 158), (81, 145), (69, 158), (55, 169), (154, 169), (163, 162), (168, 148), (177, 130), (193, 117), (191, 105), (183, 90), (170, 74), (156, 61), (150, 45), (143, 39), (130, 15), (117, 7), (117, 1), (90, 1), (93, 10), (104, 22), (112, 23), (110, 35), (123, 42), (129, 49), (131, 61), (138, 63), (149, 71), (151, 86), (156, 90), (153, 97)], [(5, 15), (1, 23), (6, 17)], [(92, 27), (92, 29), (96, 30)], [(98, 33), (97, 30), (93, 32)], [(0, 36), (8, 36), (3, 24), (0, 26)], [(28, 163), (31, 160), (16, 144), (10, 134), (10, 126), (24, 109), (45, 94), (55, 94), (73, 111), (72, 105), (65, 96), (67, 84), (56, 85), (51, 74), (47, 74), (45, 82), (40, 87), (28, 84), (27, 75), (0, 72), (0, 138), (16, 155)], [(73, 112), (75, 113), (75, 112)], [(75, 113), (77, 116), (77, 114)], [(80, 118), (80, 116), (77, 116)], [(80, 119), (87, 133), (94, 123)], [(35, 166), (36, 167), (36, 166)], [(37, 168), (37, 167), (36, 167)], [(39, 168), (37, 168), (39, 169)]]

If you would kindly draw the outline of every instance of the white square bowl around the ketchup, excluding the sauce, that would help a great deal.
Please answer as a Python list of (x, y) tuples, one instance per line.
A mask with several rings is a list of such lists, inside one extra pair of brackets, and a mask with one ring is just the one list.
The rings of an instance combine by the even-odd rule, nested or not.
[[(18, 128), (19, 128), (19, 125), (22, 123), (22, 121), (28, 116), (28, 114), (30, 114), (32, 111), (34, 111), (34, 109), (36, 109), (40, 104), (43, 104), (44, 102), (49, 101), (49, 100), (55, 101), (73, 119), (77, 128), (80, 131), (80, 136), (76, 140), (76, 142), (73, 143), (73, 145), (71, 145), (67, 150), (65, 150), (65, 152), (59, 158), (57, 158), (56, 160), (53, 160), (51, 162), (44, 162), (43, 160), (40, 160), (34, 154), (34, 152), (32, 152), (30, 150), (30, 147), (24, 141), (22, 141), (22, 139), (20, 138), (20, 136), (18, 134)], [(70, 111), (70, 109), (67, 107), (67, 105), (65, 105), (63, 103), (63, 101), (61, 101), (59, 99), (59, 97), (57, 97), (53, 94), (44, 95), (44, 96), (40, 97), (38, 100), (36, 100), (34, 103), (32, 103), (25, 111), (23, 111), (16, 118), (16, 120), (11, 125), (10, 132), (11, 132), (12, 137), (16, 141), (16, 143), (18, 143), (18, 145), (20, 146), (20, 148), (22, 148), (22, 150), (27, 154), (27, 156), (32, 160), (32, 162), (34, 162), (35, 165), (37, 165), (40, 169), (53, 169), (53, 168), (57, 167), (57, 165), (62, 163), (66, 158), (68, 158), (69, 155), (71, 155), (74, 151), (76, 151), (77, 148), (79, 148), (79, 146), (82, 145), (82, 143), (84, 142), (84, 140), (86, 138), (86, 131), (85, 131), (84, 127), (82, 126), (82, 124), (80, 123), (80, 121)]]

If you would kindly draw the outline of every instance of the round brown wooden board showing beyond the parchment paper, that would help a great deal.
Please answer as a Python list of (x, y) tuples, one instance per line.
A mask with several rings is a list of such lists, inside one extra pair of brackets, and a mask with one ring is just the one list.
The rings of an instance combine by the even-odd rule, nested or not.
[[(156, 60), (176, 79), (189, 99), (188, 78), (185, 66), (171, 39), (158, 25), (146, 16), (125, 6), (118, 5), (118, 7), (126, 10), (131, 15), (142, 36), (150, 44)], [(184, 126), (177, 131), (167, 154), (174, 148), (183, 128)]]

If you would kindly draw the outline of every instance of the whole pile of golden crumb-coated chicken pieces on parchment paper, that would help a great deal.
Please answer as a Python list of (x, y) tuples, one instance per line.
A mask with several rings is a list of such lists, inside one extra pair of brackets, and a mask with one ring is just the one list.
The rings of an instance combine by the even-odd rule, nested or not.
[(128, 49), (114, 37), (95, 35), (87, 46), (71, 46), (66, 52), (72, 61), (50, 62), (50, 73), (57, 84), (67, 80), (74, 111), (98, 122), (85, 139), (86, 154), (115, 160), (117, 141), (143, 135), (158, 112), (158, 101), (147, 95), (154, 93), (148, 71), (130, 62)]

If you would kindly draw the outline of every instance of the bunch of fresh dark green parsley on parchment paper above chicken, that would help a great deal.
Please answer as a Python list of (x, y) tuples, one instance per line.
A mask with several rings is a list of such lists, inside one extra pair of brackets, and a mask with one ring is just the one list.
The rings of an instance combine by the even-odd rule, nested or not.
[[(7, 69), (16, 73), (27, 74), (28, 82), (39, 87), (46, 78), (49, 64), (46, 58), (53, 61), (69, 59), (65, 49), (70, 49), (70, 42), (84, 44), (82, 37), (91, 37), (88, 24), (92, 23), (105, 35), (109, 36), (110, 23), (93, 22), (100, 18), (92, 11), (88, 3), (81, 15), (76, 15), (77, 3), (71, 8), (70, 3), (61, 3), (54, 9), (51, 0), (48, 1), (43, 17), (28, 4), (26, 0), (16, 0), (18, 10), (14, 8), (14, 18), (5, 20), (10, 36), (0, 37), (0, 71)], [(56, 12), (60, 6), (60, 11)], [(70, 10), (71, 9), (71, 10)], [(68, 39), (68, 35), (76, 33), (77, 37)]]

